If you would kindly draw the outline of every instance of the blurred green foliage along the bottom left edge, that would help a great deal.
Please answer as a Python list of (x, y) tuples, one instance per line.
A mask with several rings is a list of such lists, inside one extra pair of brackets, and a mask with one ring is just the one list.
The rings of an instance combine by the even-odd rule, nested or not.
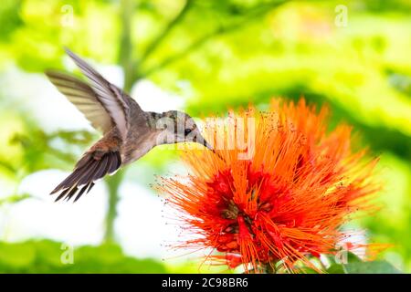
[(119, 245), (79, 246), (73, 264), (61, 262), (61, 243), (50, 240), (0, 242), (1, 273), (166, 273), (163, 263), (124, 255)]

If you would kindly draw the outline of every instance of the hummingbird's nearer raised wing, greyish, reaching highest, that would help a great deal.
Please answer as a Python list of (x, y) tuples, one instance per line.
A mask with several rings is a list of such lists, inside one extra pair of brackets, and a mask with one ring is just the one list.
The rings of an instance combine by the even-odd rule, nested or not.
[[(91, 68), (82, 58), (66, 48), (69, 57), (73, 59), (81, 72), (89, 79), (90, 87), (96, 93), (97, 99), (111, 116), (117, 128), (120, 130), (124, 141), (129, 128), (130, 107), (127, 95), (118, 87), (103, 78), (99, 72)], [(137, 106), (137, 110), (141, 110)], [(142, 111), (142, 110), (141, 110)]]

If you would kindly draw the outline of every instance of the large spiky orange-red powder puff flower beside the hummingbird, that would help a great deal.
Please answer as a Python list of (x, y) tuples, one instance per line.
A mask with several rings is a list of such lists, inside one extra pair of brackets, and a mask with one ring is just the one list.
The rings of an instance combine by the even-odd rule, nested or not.
[[(211, 257), (246, 271), (294, 272), (297, 263), (320, 271), (309, 255), (337, 254), (347, 237), (342, 224), (373, 208), (370, 196), (379, 189), (372, 181), (377, 160), (352, 151), (346, 125), (327, 133), (327, 115), (301, 99), (273, 101), (264, 113), (231, 113), (225, 127), (208, 123), (205, 137), (218, 155), (186, 151), (191, 174), (157, 186), (184, 231), (196, 235), (179, 246), (213, 248), (219, 253)], [(247, 148), (236, 142), (247, 140)]]

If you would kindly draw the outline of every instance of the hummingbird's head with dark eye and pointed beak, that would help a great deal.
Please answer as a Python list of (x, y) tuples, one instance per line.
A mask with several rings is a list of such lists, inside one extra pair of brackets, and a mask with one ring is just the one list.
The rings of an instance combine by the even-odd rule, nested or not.
[(163, 119), (165, 119), (165, 122), (162, 122), (165, 125), (163, 127), (163, 138), (165, 138), (165, 141), (163, 140), (162, 143), (195, 142), (214, 151), (213, 147), (205, 141), (205, 138), (195, 124), (195, 120), (183, 111), (166, 111), (162, 115)]

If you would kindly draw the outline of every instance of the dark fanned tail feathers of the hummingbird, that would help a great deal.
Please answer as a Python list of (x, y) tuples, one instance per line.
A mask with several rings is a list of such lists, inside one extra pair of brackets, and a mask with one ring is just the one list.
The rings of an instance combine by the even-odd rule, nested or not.
[(56, 202), (62, 198), (67, 201), (74, 195), (74, 202), (79, 200), (82, 194), (89, 193), (94, 186), (94, 182), (111, 174), (119, 169), (121, 165), (121, 155), (119, 151), (108, 151), (101, 153), (100, 151), (86, 152), (83, 157), (77, 162), (76, 167), (68, 177), (58, 184), (58, 186), (50, 193), (58, 194)]

